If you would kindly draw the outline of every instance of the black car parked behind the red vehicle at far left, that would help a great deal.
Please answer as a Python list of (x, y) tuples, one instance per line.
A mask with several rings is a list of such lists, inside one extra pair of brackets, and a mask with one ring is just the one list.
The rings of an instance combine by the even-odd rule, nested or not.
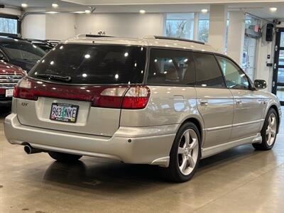
[(33, 43), (21, 38), (0, 36), (0, 60), (17, 65), (27, 72), (43, 55), (45, 51)]

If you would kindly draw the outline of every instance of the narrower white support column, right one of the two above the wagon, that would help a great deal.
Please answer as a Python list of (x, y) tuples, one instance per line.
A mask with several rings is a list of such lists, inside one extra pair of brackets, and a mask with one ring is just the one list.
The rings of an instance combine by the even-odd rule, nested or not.
[(233, 58), (239, 65), (243, 58), (245, 14), (241, 11), (230, 12), (228, 32), (227, 55)]

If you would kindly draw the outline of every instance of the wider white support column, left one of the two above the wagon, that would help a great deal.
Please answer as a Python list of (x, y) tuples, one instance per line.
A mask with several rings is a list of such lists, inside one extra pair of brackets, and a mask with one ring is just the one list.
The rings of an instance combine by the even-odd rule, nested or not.
[(219, 52), (225, 51), (227, 8), (224, 5), (210, 5), (209, 45)]

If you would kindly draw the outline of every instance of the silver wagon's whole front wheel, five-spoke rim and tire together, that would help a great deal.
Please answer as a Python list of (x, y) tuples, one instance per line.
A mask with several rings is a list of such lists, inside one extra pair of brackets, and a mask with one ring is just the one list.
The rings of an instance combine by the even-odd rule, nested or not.
[(275, 109), (268, 110), (261, 130), (262, 143), (253, 143), (256, 150), (266, 151), (273, 148), (278, 128), (278, 116)]

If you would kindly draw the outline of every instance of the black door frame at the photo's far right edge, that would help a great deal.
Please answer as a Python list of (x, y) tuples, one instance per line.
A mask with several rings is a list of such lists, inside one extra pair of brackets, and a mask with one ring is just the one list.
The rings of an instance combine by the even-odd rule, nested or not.
[[(284, 50), (284, 47), (280, 47), (281, 33), (284, 32), (284, 28), (276, 28), (276, 40), (274, 48), (274, 62), (273, 62), (273, 79), (272, 79), (272, 93), (276, 95), (277, 86), (283, 86), (284, 83), (278, 83), (278, 68), (284, 68), (284, 65), (279, 65), (280, 50)], [(284, 100), (280, 101), (281, 106), (284, 105)]]

